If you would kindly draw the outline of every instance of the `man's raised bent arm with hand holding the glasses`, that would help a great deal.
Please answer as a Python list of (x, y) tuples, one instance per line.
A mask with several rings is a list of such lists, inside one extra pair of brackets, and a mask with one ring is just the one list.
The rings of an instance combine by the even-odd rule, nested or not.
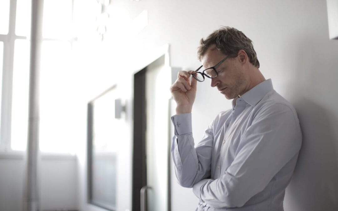
[[(203, 137), (203, 146), (194, 148), (192, 137), (191, 110), (197, 90), (197, 81), (191, 77), (193, 71), (179, 71), (177, 80), (170, 87), (176, 101), (176, 114), (172, 117), (175, 136), (172, 141), (171, 154), (175, 164), (178, 182), (183, 187), (192, 185), (203, 178), (210, 177), (211, 149), (213, 133), (209, 127)], [(191, 80), (190, 80), (191, 77)]]

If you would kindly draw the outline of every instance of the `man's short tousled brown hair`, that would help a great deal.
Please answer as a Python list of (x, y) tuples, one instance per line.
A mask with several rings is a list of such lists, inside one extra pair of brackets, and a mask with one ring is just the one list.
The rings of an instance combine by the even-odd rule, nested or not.
[(243, 49), (248, 55), (250, 63), (259, 68), (259, 61), (251, 39), (235, 28), (222, 26), (206, 39), (202, 38), (197, 51), (199, 60), (211, 45), (215, 45), (216, 49), (224, 55), (234, 55), (234, 57), (237, 56), (239, 50)]

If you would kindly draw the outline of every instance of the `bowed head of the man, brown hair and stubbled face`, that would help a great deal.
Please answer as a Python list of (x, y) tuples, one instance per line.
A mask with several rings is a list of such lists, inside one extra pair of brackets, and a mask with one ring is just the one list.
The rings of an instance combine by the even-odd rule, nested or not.
[(251, 40), (243, 32), (222, 27), (201, 39), (198, 59), (205, 69), (214, 67), (226, 56), (230, 58), (216, 68), (218, 74), (211, 79), (211, 86), (217, 87), (227, 99), (243, 95), (264, 79)]

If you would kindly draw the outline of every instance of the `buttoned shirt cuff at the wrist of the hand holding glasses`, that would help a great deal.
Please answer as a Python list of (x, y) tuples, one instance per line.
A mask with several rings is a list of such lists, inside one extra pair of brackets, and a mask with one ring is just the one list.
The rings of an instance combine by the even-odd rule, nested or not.
[(191, 113), (173, 115), (171, 121), (174, 124), (175, 135), (192, 133)]

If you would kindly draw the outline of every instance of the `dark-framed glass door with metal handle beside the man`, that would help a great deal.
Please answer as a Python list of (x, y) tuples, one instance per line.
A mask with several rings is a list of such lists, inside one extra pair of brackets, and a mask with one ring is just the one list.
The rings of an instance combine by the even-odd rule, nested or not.
[(134, 77), (132, 211), (170, 211), (170, 83), (165, 56)]

